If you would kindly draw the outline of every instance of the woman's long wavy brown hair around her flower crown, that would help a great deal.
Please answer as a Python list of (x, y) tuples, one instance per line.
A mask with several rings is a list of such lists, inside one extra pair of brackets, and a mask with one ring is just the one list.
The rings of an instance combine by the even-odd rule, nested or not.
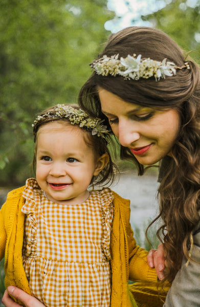
[[(148, 27), (129, 27), (112, 34), (98, 56), (120, 57), (142, 55), (142, 58), (173, 62), (178, 67), (185, 64), (185, 56), (179, 46), (162, 31)], [(95, 72), (82, 86), (79, 93), (80, 106), (90, 115), (105, 118), (97, 86), (112, 92), (123, 100), (150, 107), (176, 109), (180, 114), (181, 127), (172, 147), (173, 159), (162, 178), (158, 190), (162, 225), (157, 235), (164, 243), (171, 282), (181, 267), (183, 255), (189, 258), (190, 234), (199, 220), (200, 193), (200, 85), (198, 65), (188, 60), (190, 69), (176, 70), (175, 76), (155, 79), (125, 80), (122, 76), (102, 76)], [(108, 101), (109, 103), (109, 101)], [(106, 124), (109, 125), (108, 120)], [(144, 166), (121, 146), (122, 159), (132, 159), (140, 175)]]

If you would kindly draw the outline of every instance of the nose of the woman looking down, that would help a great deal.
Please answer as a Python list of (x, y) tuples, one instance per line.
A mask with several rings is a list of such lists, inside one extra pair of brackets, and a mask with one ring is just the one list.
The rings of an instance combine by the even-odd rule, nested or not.
[(131, 144), (140, 139), (137, 124), (130, 121), (119, 122), (119, 142), (124, 147), (131, 147)]

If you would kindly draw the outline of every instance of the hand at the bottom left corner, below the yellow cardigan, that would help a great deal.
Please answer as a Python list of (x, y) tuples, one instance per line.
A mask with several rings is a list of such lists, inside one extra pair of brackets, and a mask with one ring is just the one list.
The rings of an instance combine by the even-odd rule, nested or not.
[[(24, 303), (26, 307), (45, 307), (45, 305), (42, 304), (38, 299), (27, 294), (26, 292), (17, 287), (9, 286), (8, 291), (12, 296)], [(12, 298), (8, 294), (8, 291), (5, 291), (4, 296), (2, 298), (2, 303), (6, 307), (21, 307), (21, 305), (12, 300)]]

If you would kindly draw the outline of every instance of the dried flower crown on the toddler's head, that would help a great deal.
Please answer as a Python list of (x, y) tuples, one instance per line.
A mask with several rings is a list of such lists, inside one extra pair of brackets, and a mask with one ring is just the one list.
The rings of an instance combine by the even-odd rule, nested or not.
[(72, 125), (79, 125), (80, 128), (85, 128), (91, 131), (92, 135), (96, 135), (101, 138), (105, 138), (105, 134), (110, 131), (107, 130), (107, 126), (103, 125), (103, 121), (100, 118), (90, 117), (82, 109), (75, 108), (68, 104), (57, 104), (51, 111), (37, 116), (32, 124), (33, 134), (36, 136), (38, 127), (43, 123), (48, 123), (54, 120), (66, 118)]

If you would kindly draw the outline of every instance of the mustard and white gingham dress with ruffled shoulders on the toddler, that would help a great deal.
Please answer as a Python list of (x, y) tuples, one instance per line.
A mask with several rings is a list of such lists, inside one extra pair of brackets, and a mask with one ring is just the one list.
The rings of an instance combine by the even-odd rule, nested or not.
[(112, 191), (93, 191), (82, 204), (61, 205), (28, 179), (23, 196), (23, 263), (32, 295), (47, 307), (108, 307)]

